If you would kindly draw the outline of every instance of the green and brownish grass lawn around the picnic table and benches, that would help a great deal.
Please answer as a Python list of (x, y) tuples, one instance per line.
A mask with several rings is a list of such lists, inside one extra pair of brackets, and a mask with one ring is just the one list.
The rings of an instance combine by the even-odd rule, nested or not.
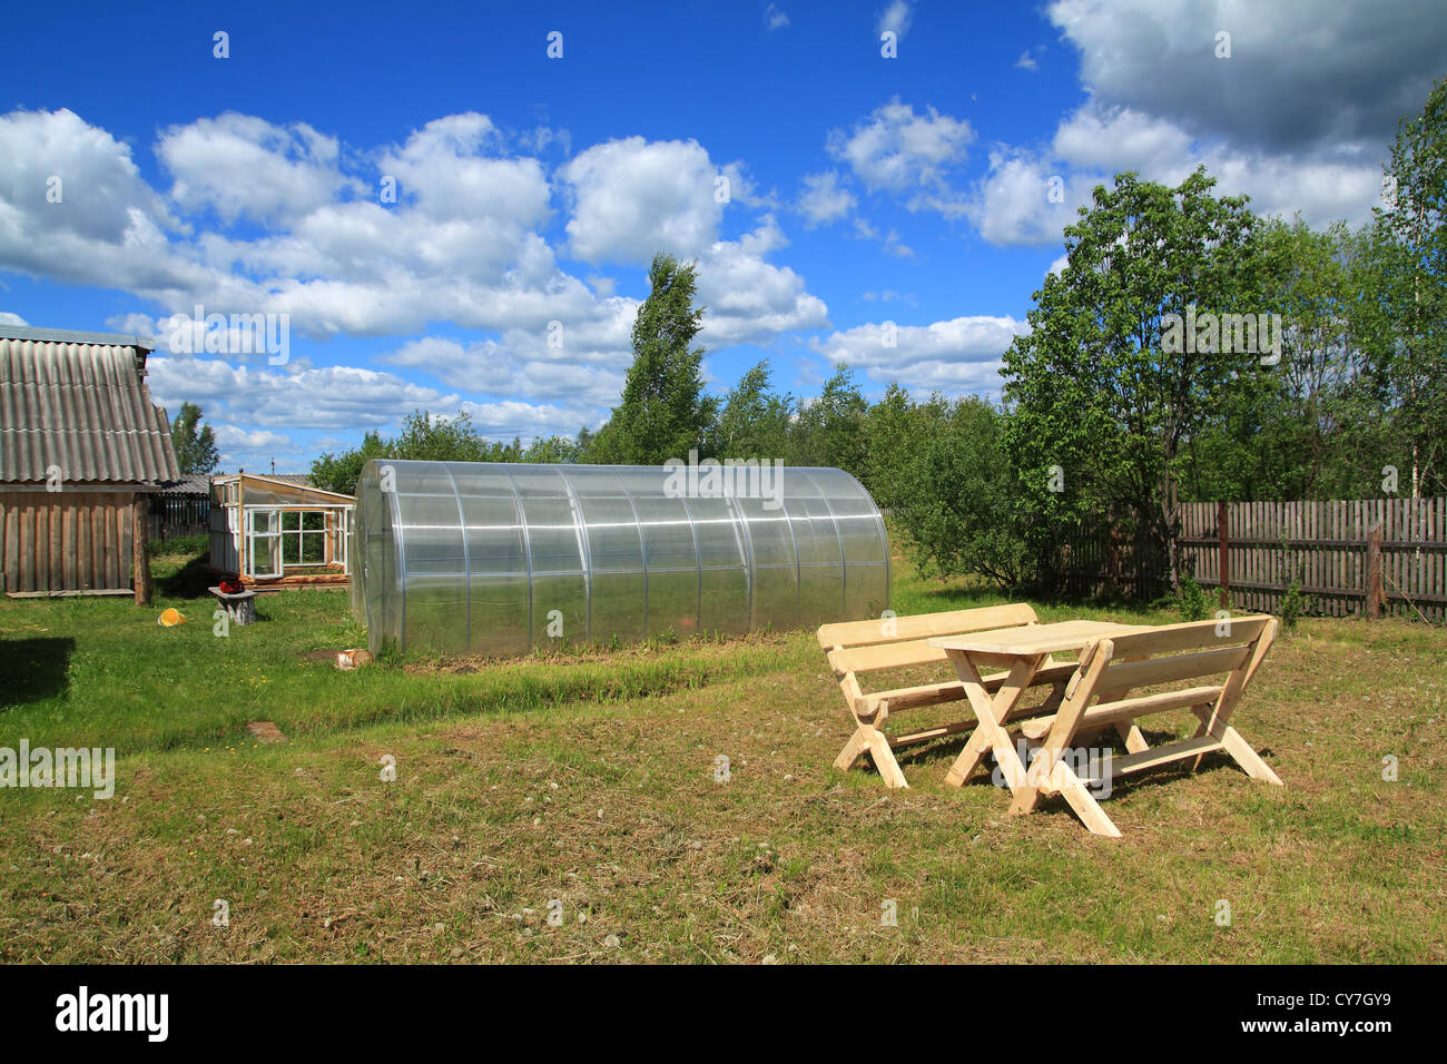
[[(810, 633), (339, 672), (307, 654), (365, 644), (344, 592), (217, 638), (185, 563), (148, 609), (0, 599), (0, 747), (119, 756), (109, 801), (0, 789), (0, 960), (1447, 960), (1441, 628), (1302, 621), (1236, 715), (1286, 788), (1132, 777), (1111, 841), (943, 786), (959, 740), (907, 792), (836, 772)], [(993, 601), (896, 559), (901, 614)]]

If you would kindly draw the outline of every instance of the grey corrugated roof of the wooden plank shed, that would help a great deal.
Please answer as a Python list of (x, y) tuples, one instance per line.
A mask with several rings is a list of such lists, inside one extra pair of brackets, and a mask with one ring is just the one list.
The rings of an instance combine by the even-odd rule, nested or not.
[(181, 476), (166, 413), (145, 384), (148, 346), (120, 340), (133, 337), (0, 329), (0, 481), (43, 481), (52, 465), (69, 482)]

